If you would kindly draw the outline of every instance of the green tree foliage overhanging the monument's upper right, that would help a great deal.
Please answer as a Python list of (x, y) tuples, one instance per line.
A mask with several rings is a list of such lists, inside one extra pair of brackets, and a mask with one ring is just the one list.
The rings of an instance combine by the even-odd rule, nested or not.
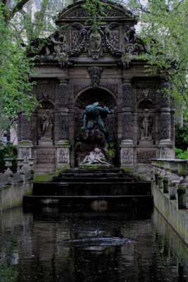
[(144, 59), (150, 70), (168, 75), (170, 94), (188, 106), (188, 0), (130, 0), (129, 7), (140, 16), (140, 34), (150, 51)]

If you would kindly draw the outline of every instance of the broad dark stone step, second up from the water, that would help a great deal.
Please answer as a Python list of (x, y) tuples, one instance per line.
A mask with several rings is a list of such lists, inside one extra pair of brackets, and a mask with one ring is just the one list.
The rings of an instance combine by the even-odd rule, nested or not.
[(34, 183), (33, 195), (44, 196), (92, 196), (92, 195), (151, 195), (151, 183), (104, 182), (104, 183)]

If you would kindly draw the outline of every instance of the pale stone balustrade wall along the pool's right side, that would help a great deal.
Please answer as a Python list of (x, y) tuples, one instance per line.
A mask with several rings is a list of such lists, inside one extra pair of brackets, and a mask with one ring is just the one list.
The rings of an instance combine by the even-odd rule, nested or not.
[(151, 159), (153, 203), (188, 244), (188, 161)]

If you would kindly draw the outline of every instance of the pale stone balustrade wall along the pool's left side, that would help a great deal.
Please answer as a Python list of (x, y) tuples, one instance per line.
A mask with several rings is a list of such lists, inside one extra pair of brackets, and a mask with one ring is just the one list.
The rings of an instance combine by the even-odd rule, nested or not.
[(32, 194), (34, 159), (18, 159), (18, 171), (11, 171), (13, 159), (5, 159), (6, 171), (0, 173), (0, 213), (18, 207), (25, 195)]

